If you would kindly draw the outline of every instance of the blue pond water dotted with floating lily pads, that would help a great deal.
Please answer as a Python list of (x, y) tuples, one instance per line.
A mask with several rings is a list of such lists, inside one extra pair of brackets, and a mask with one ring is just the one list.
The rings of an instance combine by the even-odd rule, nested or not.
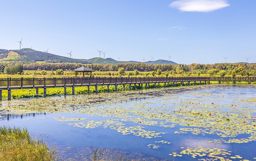
[[(221, 160), (221, 157), (255, 160), (256, 86), (201, 85), (132, 92), (123, 92), (125, 96), (120, 99), (120, 93), (117, 98), (113, 93), (97, 95), (102, 100), (112, 100), (111, 103), (73, 102), (74, 108), (68, 113), (4, 115), (0, 124), (25, 126), (36, 137), (46, 139), (48, 136), (48, 144), (59, 147), (64, 159), (77, 153), (74, 159), (80, 160), (82, 153), (86, 155), (84, 149), (92, 146), (128, 150), (158, 160)], [(45, 99), (65, 102), (70, 98), (72, 96), (2, 101), (2, 108), (17, 102)], [(83, 99), (83, 95), (74, 99)], [(18, 113), (19, 106), (16, 109)], [(67, 147), (73, 151), (65, 151)], [(211, 154), (213, 157), (202, 150), (207, 148), (219, 153)], [(180, 154), (186, 149), (186, 154)], [(176, 153), (181, 156), (175, 156)], [(196, 156), (192, 157), (193, 154)], [(242, 159), (230, 158), (235, 155)]]

